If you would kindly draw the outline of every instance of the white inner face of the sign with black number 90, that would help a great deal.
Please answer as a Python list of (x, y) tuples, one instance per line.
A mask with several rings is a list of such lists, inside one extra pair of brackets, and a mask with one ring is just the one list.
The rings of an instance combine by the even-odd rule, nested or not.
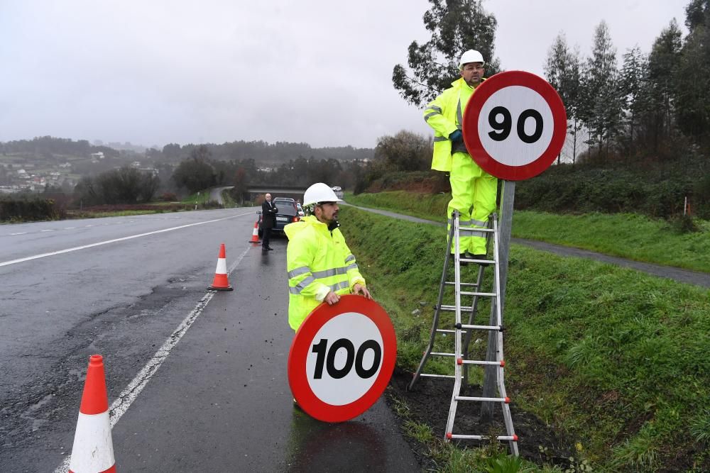
[(494, 160), (508, 166), (529, 165), (550, 146), (552, 109), (535, 90), (504, 87), (481, 107), (478, 130), (481, 145)]

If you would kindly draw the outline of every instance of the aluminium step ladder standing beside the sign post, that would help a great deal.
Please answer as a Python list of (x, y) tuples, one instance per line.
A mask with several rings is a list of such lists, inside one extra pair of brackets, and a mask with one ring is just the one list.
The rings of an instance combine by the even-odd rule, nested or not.
[[(460, 248), (460, 236), (461, 233), (473, 233), (473, 232), (485, 232), (486, 233), (486, 246), (490, 243), (491, 237), (493, 239), (493, 260), (474, 260), (471, 258), (461, 258), (459, 253)], [(454, 247), (454, 254), (452, 255), (449, 250)], [(454, 263), (454, 281), (447, 281), (447, 270), (449, 269), (449, 263), (453, 260)], [(461, 262), (466, 263), (479, 263), (478, 277), (475, 283), (464, 283), (461, 282)], [(494, 269), (493, 271), (493, 289), (491, 292), (481, 291), (481, 283), (483, 282), (484, 270), (488, 265), (491, 265)], [(447, 286), (454, 286), (454, 305), (444, 305), (442, 301), (444, 299), (444, 290)], [(447, 252), (444, 258), (444, 270), (442, 272), (441, 284), (439, 284), (439, 299), (437, 305), (435, 306), (434, 321), (432, 323), (432, 331), (430, 334), (429, 345), (425, 350), (422, 360), (417, 368), (417, 371), (413, 374), (412, 381), (410, 382), (408, 389), (412, 389), (414, 384), (420, 377), (435, 377), (435, 378), (453, 378), (454, 379), (454, 391), (451, 397), (451, 404), (449, 405), (449, 417), (447, 419), (446, 425), (446, 440), (452, 439), (470, 439), (470, 440), (486, 440), (491, 438), (491, 435), (464, 435), (459, 433), (453, 433), (454, 428), (454, 418), (456, 417), (456, 411), (459, 401), (479, 401), (479, 402), (493, 402), (501, 404), (503, 408), (503, 420), (506, 424), (507, 435), (497, 435), (497, 440), (508, 440), (510, 445), (510, 452), (516, 457), (518, 456), (518, 435), (515, 435), (515, 430), (513, 428), (513, 418), (510, 416), (510, 399), (506, 394), (506, 386), (503, 382), (503, 369), (506, 366), (506, 362), (503, 360), (503, 317), (501, 314), (501, 298), (498, 291), (500, 284), (500, 271), (498, 267), (498, 217), (495, 213), (491, 215), (488, 220), (488, 228), (461, 228), (459, 226), (459, 212), (454, 211), (452, 213), (452, 225), (449, 229), (449, 237), (447, 240)], [(466, 290), (463, 291), (461, 288), (464, 287)], [(470, 306), (461, 305), (461, 296), (472, 296), (472, 302)], [(488, 297), (491, 299), (491, 317), (489, 325), (474, 325), (474, 318), (476, 316), (476, 311), (478, 308), (479, 298)], [(461, 323), (461, 311), (466, 311), (469, 314), (468, 323)], [(454, 312), (455, 322), (452, 324), (452, 329), (439, 328), (439, 316), (442, 312)], [(469, 360), (469, 343), (471, 342), (471, 336), (474, 331), (484, 331), (491, 333), (493, 332), (493, 337), (488, 338), (488, 343), (493, 341), (495, 347), (495, 360)], [(434, 352), (435, 338), (437, 334), (441, 334), (444, 337), (447, 334), (454, 335), (454, 352)], [(461, 340), (461, 338), (464, 340)], [(491, 347), (489, 347), (491, 348)], [(488, 350), (491, 353), (491, 350)], [(428, 374), (423, 373), (422, 370), (427, 362), (427, 360), (432, 356), (439, 357), (452, 357), (454, 359), (454, 375), (450, 374)], [(489, 356), (490, 358), (490, 356)], [(495, 367), (495, 377), (496, 385), (498, 387), (498, 397), (480, 397), (480, 396), (461, 396), (461, 384), (466, 385), (468, 380), (468, 365), (481, 365), (484, 367)]]

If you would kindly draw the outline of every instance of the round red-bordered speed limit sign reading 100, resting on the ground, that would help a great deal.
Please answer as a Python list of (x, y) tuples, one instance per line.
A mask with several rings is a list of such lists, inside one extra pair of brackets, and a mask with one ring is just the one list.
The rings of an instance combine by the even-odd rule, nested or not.
[(321, 304), (303, 321), (288, 354), (288, 384), (310, 416), (342, 422), (370, 408), (385, 390), (397, 357), (387, 313), (363, 296)]

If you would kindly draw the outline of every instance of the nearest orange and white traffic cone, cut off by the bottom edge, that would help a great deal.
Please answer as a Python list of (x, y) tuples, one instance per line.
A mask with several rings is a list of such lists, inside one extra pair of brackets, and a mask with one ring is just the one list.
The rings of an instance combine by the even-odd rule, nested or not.
[(69, 472), (116, 472), (104, 359), (101, 355), (89, 358)]

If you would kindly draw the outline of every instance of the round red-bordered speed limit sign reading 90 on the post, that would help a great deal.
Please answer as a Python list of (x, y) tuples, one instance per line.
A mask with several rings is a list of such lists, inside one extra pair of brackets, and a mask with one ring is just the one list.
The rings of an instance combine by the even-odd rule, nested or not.
[(476, 88), (462, 128), (466, 149), (484, 171), (520, 181), (555, 161), (567, 135), (567, 113), (545, 79), (530, 72), (501, 72)]

